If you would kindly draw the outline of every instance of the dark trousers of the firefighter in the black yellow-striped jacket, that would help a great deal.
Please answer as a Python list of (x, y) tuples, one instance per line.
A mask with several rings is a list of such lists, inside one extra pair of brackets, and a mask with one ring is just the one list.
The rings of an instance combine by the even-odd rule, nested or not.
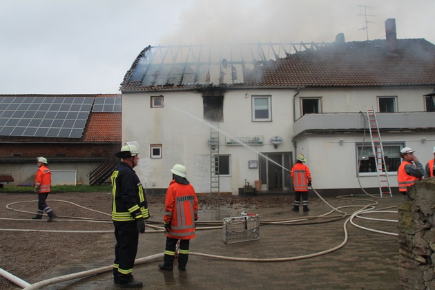
[(136, 222), (113, 222), (115, 226), (115, 261), (113, 262), (113, 278), (119, 282), (129, 282), (133, 276), (133, 266), (139, 244), (139, 231)]

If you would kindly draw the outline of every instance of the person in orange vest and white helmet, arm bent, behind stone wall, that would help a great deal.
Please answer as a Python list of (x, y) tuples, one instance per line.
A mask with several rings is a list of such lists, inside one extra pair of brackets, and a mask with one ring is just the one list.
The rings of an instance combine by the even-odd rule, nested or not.
[[(403, 162), (400, 164), (397, 171), (397, 181), (399, 191), (403, 194), (405, 200), (408, 199), (407, 191), (409, 186), (413, 186), (416, 182), (422, 180), (423, 175), (425, 175), (423, 164), (418, 161), (414, 152), (416, 151), (409, 147), (400, 150), (400, 157), (402, 157)], [(414, 164), (412, 162), (414, 162)]]

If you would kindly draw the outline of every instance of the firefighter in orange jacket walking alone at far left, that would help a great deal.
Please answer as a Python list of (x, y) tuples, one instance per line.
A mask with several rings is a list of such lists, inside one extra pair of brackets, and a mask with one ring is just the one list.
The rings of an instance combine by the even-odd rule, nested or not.
[(47, 222), (52, 222), (56, 218), (56, 214), (46, 200), (51, 191), (51, 172), (47, 167), (48, 162), (44, 157), (37, 157), (38, 171), (35, 180), (35, 193), (38, 193), (38, 211), (32, 220), (41, 220), (42, 214), (45, 211), (48, 215)]

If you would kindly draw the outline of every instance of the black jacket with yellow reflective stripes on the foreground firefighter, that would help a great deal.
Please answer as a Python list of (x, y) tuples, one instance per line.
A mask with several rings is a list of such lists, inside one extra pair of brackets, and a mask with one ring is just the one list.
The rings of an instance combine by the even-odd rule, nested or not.
[(130, 222), (137, 218), (149, 218), (144, 188), (131, 166), (121, 162), (110, 180), (113, 187), (113, 221)]

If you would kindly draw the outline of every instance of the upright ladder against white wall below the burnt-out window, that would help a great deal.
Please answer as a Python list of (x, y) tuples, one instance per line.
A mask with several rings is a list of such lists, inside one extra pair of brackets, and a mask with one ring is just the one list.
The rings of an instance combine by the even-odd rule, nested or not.
[(219, 180), (219, 124), (210, 126), (210, 194), (220, 195)]

